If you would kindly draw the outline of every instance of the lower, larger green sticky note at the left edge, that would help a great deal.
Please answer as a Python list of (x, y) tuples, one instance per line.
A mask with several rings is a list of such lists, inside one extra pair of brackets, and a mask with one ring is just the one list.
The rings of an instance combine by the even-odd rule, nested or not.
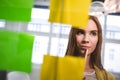
[(34, 36), (0, 30), (0, 70), (31, 72)]

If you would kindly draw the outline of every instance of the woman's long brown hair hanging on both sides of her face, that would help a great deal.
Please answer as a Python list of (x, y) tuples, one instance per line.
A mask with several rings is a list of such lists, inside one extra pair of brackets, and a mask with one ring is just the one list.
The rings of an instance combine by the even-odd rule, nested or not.
[[(94, 65), (96, 65), (99, 69), (103, 69), (102, 63), (101, 63), (101, 47), (102, 47), (102, 29), (101, 29), (101, 24), (98, 20), (97, 17), (95, 16), (89, 16), (89, 19), (92, 19), (98, 28), (98, 43), (96, 45), (95, 50), (91, 54), (90, 57), (90, 67), (94, 68)], [(80, 53), (77, 48), (77, 42), (76, 42), (76, 37), (75, 35), (79, 29), (77, 28), (71, 28), (70, 34), (69, 34), (69, 40), (68, 40), (68, 46), (66, 50), (66, 55), (71, 55), (71, 56), (80, 56)]]

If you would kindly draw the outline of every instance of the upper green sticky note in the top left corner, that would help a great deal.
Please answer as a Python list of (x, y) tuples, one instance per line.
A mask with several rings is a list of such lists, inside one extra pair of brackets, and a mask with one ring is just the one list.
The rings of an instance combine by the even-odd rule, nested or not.
[(33, 0), (0, 0), (0, 19), (28, 22), (32, 7)]

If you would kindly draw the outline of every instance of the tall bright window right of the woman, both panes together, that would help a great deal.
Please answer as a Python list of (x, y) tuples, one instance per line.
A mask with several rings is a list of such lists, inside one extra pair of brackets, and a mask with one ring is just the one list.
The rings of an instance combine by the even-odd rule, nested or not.
[(104, 67), (120, 73), (120, 16), (108, 15), (106, 21)]

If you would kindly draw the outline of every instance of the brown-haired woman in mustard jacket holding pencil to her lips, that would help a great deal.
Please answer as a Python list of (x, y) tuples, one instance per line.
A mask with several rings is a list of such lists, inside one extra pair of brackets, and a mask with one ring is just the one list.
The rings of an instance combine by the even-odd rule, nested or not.
[[(102, 29), (95, 16), (90, 16), (85, 29), (71, 28), (66, 55), (86, 57), (85, 80), (115, 80), (101, 63)], [(85, 54), (86, 53), (86, 54)]]

